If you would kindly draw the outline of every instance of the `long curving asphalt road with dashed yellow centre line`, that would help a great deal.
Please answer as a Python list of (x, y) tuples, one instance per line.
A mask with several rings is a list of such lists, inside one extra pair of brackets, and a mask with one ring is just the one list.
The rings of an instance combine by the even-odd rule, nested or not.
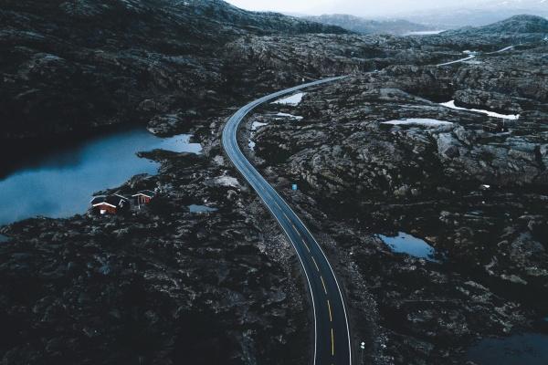
[(315, 365), (351, 365), (352, 347), (348, 316), (344, 306), (341, 287), (321, 246), (316, 242), (299, 216), (290, 205), (246, 159), (237, 144), (237, 128), (251, 110), (259, 105), (279, 99), (300, 89), (318, 86), (346, 77), (325, 78), (294, 88), (281, 90), (250, 102), (230, 117), (223, 130), (223, 148), (237, 170), (255, 189), (270, 213), (293, 245), (306, 276), (314, 315)]

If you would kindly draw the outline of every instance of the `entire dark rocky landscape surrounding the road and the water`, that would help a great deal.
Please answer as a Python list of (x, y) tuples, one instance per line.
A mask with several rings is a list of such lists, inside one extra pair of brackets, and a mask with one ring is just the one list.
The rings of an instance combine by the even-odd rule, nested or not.
[[(2, 363), (307, 363), (297, 257), (219, 141), (245, 100), (342, 74), (297, 106), (258, 110), (241, 140), (329, 256), (364, 362), (462, 364), (479, 339), (548, 329), (542, 18), (427, 37), (220, 1), (8, 1), (0, 18), (4, 146), (137, 122), (192, 130), (204, 147), (143, 152), (158, 175), (115, 191), (159, 197), (130, 214), (0, 228)], [(465, 50), (479, 54), (436, 66)], [(449, 100), (520, 118), (438, 104)], [(403, 119), (447, 123), (383, 123)], [(436, 254), (395, 253), (379, 235), (397, 232)]]

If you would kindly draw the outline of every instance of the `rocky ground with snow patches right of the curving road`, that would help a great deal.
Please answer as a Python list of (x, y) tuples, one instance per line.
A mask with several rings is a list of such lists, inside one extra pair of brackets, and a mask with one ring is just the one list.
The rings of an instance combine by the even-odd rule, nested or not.
[[(335, 265), (363, 281), (349, 297), (374, 297), (385, 340), (370, 339), (372, 363), (460, 364), (476, 339), (546, 330), (547, 54), (537, 43), (446, 68), (390, 66), (251, 118), (264, 123), (256, 164), (336, 242)], [(438, 104), (449, 99), (520, 118)], [(384, 123), (406, 119), (445, 123)], [(436, 261), (378, 236), (397, 232), (427, 240)]]

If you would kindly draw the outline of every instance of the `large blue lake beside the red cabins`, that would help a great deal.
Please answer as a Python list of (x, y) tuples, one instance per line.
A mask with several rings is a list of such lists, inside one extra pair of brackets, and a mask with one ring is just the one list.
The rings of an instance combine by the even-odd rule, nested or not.
[(85, 213), (92, 193), (119, 186), (139, 173), (158, 172), (159, 163), (139, 158), (136, 152), (199, 153), (200, 144), (190, 138), (159, 138), (132, 127), (33, 156), (0, 178), (0, 225), (37, 215), (62, 218)]

